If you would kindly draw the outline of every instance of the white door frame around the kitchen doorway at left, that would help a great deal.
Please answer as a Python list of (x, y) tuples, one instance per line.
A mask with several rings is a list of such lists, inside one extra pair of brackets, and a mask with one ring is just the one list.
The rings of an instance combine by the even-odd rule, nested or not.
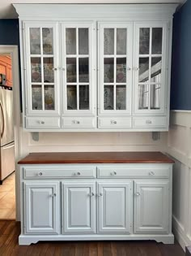
[(0, 46), (0, 54), (11, 54), (12, 77), (13, 77), (13, 113), (15, 124), (15, 206), (16, 220), (19, 220), (19, 167), (20, 157), (20, 86), (19, 86), (19, 49), (18, 46)]

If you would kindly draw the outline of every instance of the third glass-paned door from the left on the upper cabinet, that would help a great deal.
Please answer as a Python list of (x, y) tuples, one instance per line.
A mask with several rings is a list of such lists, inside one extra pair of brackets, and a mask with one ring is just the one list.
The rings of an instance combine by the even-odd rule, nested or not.
[(131, 23), (99, 24), (100, 115), (130, 115), (132, 88)]

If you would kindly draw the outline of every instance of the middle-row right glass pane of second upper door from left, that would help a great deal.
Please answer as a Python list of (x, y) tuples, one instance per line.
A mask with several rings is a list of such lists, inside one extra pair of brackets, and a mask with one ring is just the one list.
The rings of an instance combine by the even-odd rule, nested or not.
[(89, 82), (89, 59), (79, 58), (79, 82)]

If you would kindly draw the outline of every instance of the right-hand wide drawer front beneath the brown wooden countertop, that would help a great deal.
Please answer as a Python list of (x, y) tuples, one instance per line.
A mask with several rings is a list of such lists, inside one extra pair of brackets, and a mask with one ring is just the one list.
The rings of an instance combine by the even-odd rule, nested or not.
[(99, 178), (168, 178), (168, 167), (159, 168), (115, 168), (115, 167), (99, 167)]

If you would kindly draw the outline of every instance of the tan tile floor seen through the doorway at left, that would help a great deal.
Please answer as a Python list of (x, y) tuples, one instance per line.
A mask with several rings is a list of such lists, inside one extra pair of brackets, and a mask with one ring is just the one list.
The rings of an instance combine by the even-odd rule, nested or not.
[(0, 219), (15, 220), (15, 172), (0, 185)]

